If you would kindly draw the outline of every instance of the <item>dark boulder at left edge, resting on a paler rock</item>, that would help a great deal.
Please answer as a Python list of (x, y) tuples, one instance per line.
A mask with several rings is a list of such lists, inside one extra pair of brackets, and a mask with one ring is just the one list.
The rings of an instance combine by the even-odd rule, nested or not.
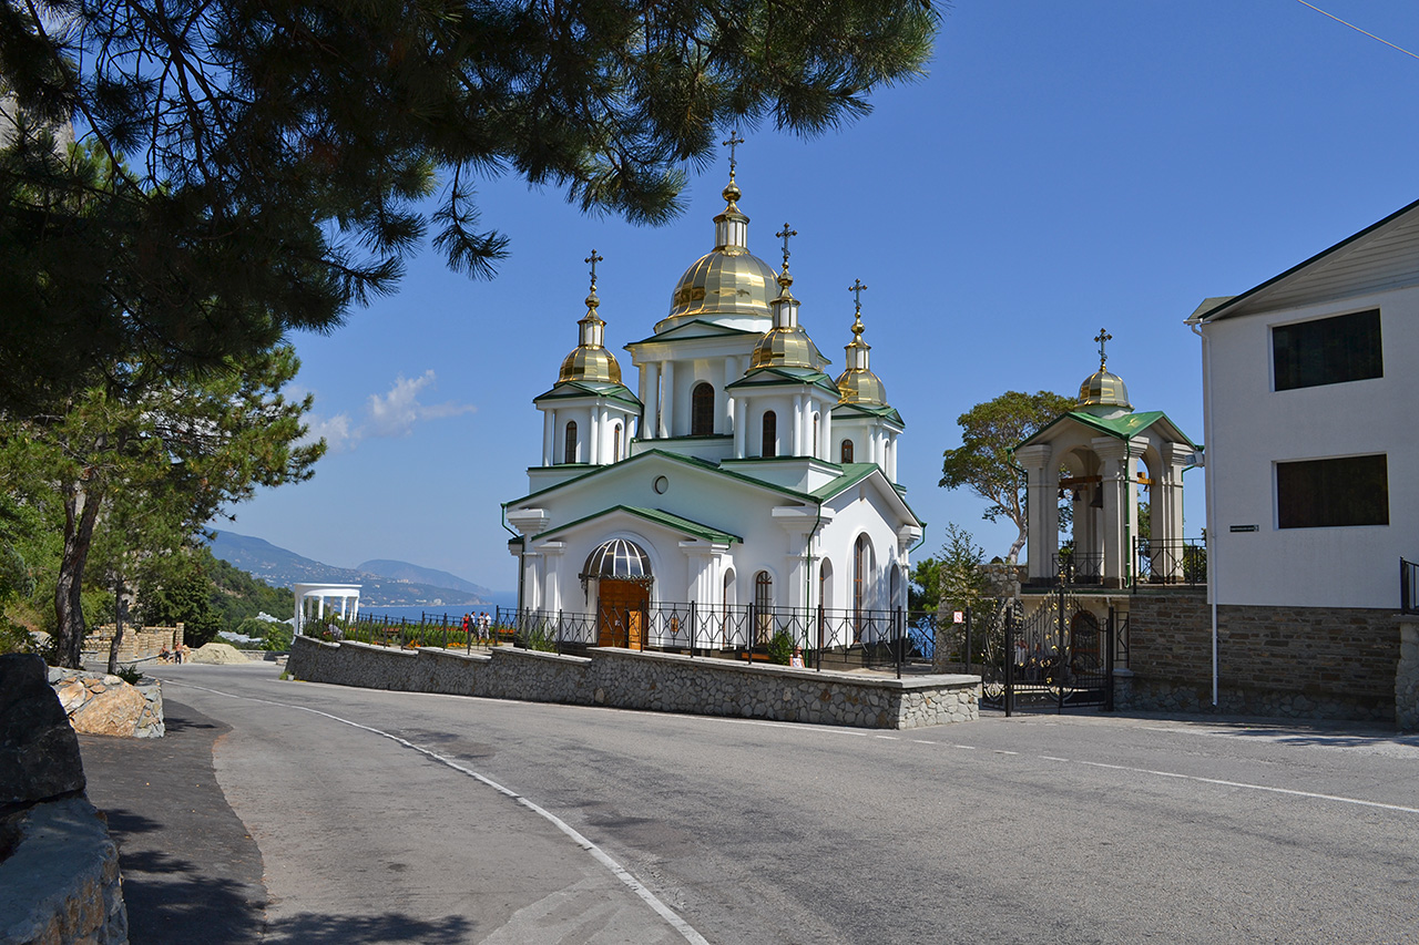
[(50, 688), (44, 660), (0, 656), (0, 805), (27, 805), (79, 790), (79, 739)]

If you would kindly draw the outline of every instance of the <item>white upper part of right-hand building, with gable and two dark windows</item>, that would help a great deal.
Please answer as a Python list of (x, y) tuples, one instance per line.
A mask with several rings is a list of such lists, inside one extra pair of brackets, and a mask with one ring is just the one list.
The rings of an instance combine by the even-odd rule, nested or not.
[(1419, 558), (1419, 203), (1188, 321), (1213, 602), (1393, 613)]

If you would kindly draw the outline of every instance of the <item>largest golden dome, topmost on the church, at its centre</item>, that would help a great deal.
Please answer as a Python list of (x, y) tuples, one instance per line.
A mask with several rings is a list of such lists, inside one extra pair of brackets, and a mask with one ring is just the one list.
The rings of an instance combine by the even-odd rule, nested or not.
[(766, 322), (773, 316), (769, 301), (778, 272), (749, 253), (749, 217), (735, 203), (739, 196), (739, 187), (729, 180), (724, 213), (714, 219), (715, 248), (695, 260), (675, 282), (670, 314), (656, 325), (657, 333), (697, 318), (728, 315)]

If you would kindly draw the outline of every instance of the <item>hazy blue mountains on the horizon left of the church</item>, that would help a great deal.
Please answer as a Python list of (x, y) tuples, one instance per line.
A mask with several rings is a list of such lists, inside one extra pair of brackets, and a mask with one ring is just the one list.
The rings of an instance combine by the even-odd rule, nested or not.
[(429, 583), (426, 580), (412, 580), (392, 578), (373, 570), (366, 570), (362, 565), (355, 568), (336, 568), (311, 558), (302, 558), (295, 552), (278, 548), (268, 541), (237, 535), (234, 532), (217, 532), (211, 542), (211, 553), (221, 560), (240, 568), (254, 578), (260, 578), (272, 587), (289, 587), (291, 585), (336, 583), (362, 585), (360, 607), (473, 607), (491, 603), (487, 587), (480, 587), (471, 582), (446, 575), (440, 570), (419, 568), (406, 562), (369, 562), (373, 565), (396, 565), (412, 569), (409, 573), (417, 576), (451, 578), (461, 587), (444, 583)]

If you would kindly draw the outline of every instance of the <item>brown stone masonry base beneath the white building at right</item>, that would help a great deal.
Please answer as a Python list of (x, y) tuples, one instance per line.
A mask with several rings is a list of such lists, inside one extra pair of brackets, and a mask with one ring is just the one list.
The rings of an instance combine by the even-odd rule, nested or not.
[[(1130, 599), (1122, 708), (1212, 711), (1206, 593)], [(1399, 633), (1379, 609), (1218, 607), (1216, 711), (1290, 718), (1395, 719)]]

